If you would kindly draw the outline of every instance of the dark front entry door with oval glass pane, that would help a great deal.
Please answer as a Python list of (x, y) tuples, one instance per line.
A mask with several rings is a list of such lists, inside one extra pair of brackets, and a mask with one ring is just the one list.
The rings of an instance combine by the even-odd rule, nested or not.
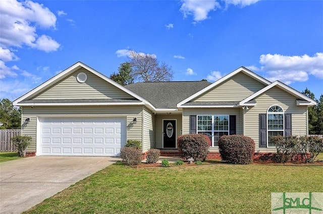
[(163, 127), (164, 148), (176, 148), (176, 121), (165, 120)]

